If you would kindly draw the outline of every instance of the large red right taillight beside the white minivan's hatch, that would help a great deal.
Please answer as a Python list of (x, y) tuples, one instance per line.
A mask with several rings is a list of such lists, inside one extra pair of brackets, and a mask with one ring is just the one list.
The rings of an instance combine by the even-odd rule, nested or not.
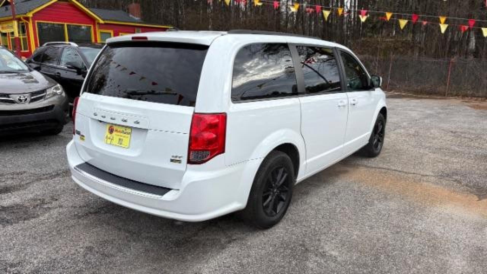
[(225, 153), (226, 114), (193, 114), (188, 164), (202, 164)]

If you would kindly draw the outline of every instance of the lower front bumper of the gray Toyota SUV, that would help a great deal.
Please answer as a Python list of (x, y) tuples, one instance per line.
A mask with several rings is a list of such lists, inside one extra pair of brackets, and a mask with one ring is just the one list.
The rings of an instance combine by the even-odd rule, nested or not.
[(38, 106), (31, 109), (0, 110), (0, 136), (43, 131), (63, 126), (68, 122), (68, 101)]

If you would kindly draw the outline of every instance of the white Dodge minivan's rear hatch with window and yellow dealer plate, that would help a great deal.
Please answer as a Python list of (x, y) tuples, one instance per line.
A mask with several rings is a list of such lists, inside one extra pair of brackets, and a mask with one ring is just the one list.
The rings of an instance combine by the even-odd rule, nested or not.
[(108, 44), (78, 101), (81, 158), (117, 176), (179, 189), (207, 49), (162, 41)]

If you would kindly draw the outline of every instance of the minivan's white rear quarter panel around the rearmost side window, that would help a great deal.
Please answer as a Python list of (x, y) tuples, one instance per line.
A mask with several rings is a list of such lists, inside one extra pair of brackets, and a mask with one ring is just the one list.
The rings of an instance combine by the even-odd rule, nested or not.
[[(301, 109), (298, 98), (241, 103), (231, 101), (233, 63), (238, 51), (251, 43), (287, 41), (273, 36), (239, 35), (239, 39), (234, 38), (232, 35), (219, 37), (209, 47), (195, 107), (196, 112), (227, 113), (225, 165), (232, 166), (250, 160), (260, 163), (283, 143), (294, 144), (300, 153), (300, 163), (304, 163), (305, 149), (300, 134)], [(301, 171), (304, 168), (300, 168)]]

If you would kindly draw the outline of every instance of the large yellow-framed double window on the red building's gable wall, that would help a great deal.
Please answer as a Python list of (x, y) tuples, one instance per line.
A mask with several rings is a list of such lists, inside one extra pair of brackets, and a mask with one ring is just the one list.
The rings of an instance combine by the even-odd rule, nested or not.
[(37, 22), (37, 34), (39, 36), (40, 46), (47, 42), (57, 41), (75, 43), (93, 42), (92, 26), (90, 25)]

